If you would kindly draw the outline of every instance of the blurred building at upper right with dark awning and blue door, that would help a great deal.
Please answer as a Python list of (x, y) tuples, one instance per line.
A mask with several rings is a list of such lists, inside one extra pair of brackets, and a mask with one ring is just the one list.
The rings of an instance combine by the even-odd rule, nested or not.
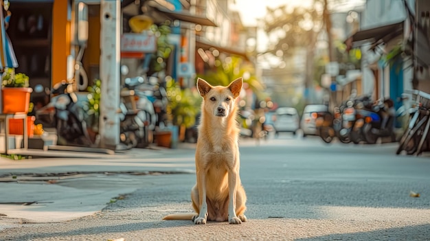
[(360, 30), (348, 47), (361, 47), (363, 90), (390, 97), (396, 108), (408, 89), (430, 91), (427, 1), (367, 0)]

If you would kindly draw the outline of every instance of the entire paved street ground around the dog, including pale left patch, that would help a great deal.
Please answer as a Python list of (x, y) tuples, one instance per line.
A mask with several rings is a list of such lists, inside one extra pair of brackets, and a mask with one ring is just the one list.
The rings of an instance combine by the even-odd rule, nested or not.
[[(63, 166), (60, 162), (65, 160), (53, 164), (53, 159), (41, 159), (43, 165), (30, 160), (29, 168), (5, 165), (3, 179), (19, 170), (67, 170), (82, 176), (1, 182), (0, 190), (16, 190), (8, 191), (8, 197), (1, 195), (1, 202), (29, 201), (32, 196), (19, 191), (37, 187), (52, 190), (54, 194), (45, 195), (54, 203), (18, 205), (22, 209), (14, 205), (10, 214), (14, 218), (7, 213), (12, 205), (0, 205), (0, 214), (8, 215), (0, 216), (0, 240), (430, 240), (428, 156), (396, 156), (396, 144), (327, 145), (317, 137), (290, 135), (259, 145), (242, 141), (240, 146), (249, 219), (242, 225), (161, 220), (166, 214), (192, 212), (194, 149), (185, 145), (177, 150), (139, 150), (124, 159), (80, 159)], [(135, 173), (120, 173), (131, 171)], [(80, 196), (61, 198), (68, 190)], [(411, 192), (420, 196), (411, 197)], [(67, 200), (76, 204), (71, 214), (61, 205)], [(45, 219), (36, 215), (44, 207), (54, 210), (42, 211)]]

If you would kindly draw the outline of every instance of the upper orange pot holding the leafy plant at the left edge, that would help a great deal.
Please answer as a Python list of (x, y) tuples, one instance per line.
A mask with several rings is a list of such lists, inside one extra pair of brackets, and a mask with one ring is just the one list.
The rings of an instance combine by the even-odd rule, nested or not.
[(1, 89), (1, 97), (3, 97), (3, 113), (28, 113), (30, 107), (30, 93), (32, 88), (10, 88), (3, 87)]

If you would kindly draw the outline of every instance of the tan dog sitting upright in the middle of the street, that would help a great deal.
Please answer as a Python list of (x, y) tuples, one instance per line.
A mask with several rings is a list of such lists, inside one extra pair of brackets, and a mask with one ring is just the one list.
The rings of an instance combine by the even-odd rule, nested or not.
[(237, 97), (242, 78), (228, 87), (213, 87), (197, 80), (203, 97), (199, 139), (196, 146), (196, 185), (192, 188), (192, 207), (198, 215), (169, 215), (165, 220), (192, 219), (196, 225), (209, 221), (245, 222), (247, 196), (239, 176), (239, 128)]

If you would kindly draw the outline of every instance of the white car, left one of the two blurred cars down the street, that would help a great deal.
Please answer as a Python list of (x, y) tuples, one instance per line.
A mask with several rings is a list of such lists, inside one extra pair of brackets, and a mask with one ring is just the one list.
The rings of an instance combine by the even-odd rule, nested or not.
[(275, 128), (275, 135), (279, 133), (293, 133), (299, 129), (299, 114), (297, 110), (292, 107), (280, 107), (273, 115), (273, 128)]

